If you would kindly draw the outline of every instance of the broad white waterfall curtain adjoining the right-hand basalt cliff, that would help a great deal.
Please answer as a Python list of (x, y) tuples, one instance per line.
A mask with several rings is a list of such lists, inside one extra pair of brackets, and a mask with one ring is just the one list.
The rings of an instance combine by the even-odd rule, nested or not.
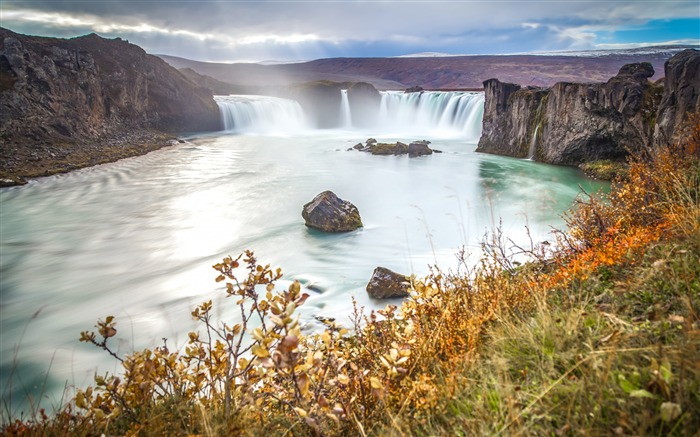
[(383, 129), (439, 136), (459, 135), (473, 140), (481, 135), (483, 93), (384, 91), (381, 94), (378, 126)]

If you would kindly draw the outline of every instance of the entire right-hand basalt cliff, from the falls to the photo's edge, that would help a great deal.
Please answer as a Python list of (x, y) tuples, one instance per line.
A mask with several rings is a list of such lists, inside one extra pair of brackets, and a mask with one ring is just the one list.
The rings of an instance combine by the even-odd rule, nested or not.
[(700, 52), (686, 50), (666, 62), (663, 85), (649, 81), (649, 63), (625, 65), (605, 83), (522, 88), (487, 80), (477, 151), (561, 165), (621, 160), (668, 141), (700, 109), (699, 66)]

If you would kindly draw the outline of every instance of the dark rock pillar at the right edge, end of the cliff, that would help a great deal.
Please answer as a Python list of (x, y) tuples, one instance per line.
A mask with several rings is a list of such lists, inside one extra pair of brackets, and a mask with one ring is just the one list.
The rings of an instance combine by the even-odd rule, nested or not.
[(684, 50), (664, 65), (664, 94), (659, 104), (654, 143), (672, 142), (692, 112), (700, 112), (700, 51)]

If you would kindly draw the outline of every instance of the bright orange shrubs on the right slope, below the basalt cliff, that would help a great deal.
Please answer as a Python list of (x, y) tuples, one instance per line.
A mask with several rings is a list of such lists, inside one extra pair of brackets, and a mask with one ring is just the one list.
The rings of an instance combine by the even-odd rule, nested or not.
[(579, 201), (567, 217), (567, 247), (556, 253), (545, 287), (566, 286), (601, 266), (633, 263), (663, 235), (697, 228), (700, 116), (693, 115), (683, 133), (683, 141), (632, 157), (627, 175), (607, 196)]

